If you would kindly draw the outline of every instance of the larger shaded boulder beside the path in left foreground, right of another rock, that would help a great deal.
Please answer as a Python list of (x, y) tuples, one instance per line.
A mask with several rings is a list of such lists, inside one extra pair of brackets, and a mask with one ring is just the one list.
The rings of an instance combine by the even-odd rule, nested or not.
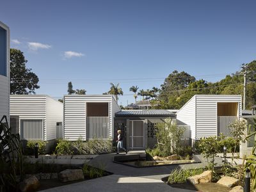
[(68, 182), (71, 180), (84, 179), (84, 174), (81, 169), (79, 170), (64, 170), (59, 173), (59, 179), (61, 182)]

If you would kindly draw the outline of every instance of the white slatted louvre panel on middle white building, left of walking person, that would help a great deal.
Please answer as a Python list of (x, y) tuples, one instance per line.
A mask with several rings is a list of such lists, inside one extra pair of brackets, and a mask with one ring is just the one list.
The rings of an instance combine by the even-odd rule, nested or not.
[(109, 139), (109, 117), (88, 116), (87, 117), (87, 139), (108, 140)]

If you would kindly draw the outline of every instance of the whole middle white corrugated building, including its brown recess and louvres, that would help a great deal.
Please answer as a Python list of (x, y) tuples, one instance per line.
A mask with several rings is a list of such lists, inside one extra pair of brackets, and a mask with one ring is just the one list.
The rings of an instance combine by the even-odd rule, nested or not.
[(64, 95), (63, 103), (63, 138), (113, 138), (115, 113), (121, 110), (113, 95)]

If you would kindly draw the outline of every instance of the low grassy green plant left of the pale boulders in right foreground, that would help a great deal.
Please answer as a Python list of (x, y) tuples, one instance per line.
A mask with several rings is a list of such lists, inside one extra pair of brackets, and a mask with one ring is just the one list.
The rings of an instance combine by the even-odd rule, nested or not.
[(176, 168), (171, 172), (170, 176), (168, 177), (168, 183), (174, 184), (174, 183), (186, 182), (188, 177), (199, 175), (203, 172), (204, 172), (203, 168), (196, 168), (196, 169), (190, 169), (190, 170), (180, 170)]

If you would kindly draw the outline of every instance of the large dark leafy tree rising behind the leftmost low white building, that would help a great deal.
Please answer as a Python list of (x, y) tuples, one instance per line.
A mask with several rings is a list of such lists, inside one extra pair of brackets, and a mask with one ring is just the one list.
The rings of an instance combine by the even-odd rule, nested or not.
[(40, 88), (38, 76), (26, 68), (23, 52), (19, 49), (10, 49), (10, 94), (22, 95), (34, 93)]

